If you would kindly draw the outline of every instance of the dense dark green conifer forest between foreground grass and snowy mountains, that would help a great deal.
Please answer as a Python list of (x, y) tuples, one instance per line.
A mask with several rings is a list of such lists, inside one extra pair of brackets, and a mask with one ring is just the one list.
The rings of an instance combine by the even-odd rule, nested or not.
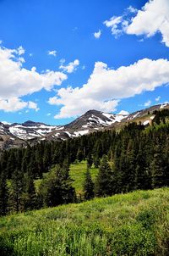
[[(0, 214), (78, 202), (69, 164), (86, 160), (84, 200), (169, 186), (169, 110), (152, 125), (128, 123), (62, 142), (12, 148), (0, 154)], [(90, 167), (99, 168), (95, 182)], [(48, 173), (46, 178), (43, 174)], [(41, 178), (38, 192), (34, 181)]]

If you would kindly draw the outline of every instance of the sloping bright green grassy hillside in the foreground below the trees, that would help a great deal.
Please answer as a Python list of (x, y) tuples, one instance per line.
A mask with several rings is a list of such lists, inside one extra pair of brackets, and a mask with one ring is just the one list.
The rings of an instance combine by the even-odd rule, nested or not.
[(169, 188), (96, 198), (0, 219), (2, 256), (169, 253)]

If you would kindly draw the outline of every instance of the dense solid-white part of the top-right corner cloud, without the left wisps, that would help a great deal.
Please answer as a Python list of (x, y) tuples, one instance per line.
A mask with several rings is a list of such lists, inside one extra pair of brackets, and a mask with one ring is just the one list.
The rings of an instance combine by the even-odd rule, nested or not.
[(169, 47), (169, 1), (150, 0), (138, 11), (127, 28), (128, 34), (154, 36), (161, 32), (162, 42)]

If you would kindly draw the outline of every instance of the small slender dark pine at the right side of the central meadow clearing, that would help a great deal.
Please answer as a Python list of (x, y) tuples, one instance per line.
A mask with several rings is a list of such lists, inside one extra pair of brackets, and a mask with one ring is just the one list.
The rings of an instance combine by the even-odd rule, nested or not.
[(90, 170), (87, 169), (85, 173), (85, 181), (83, 186), (84, 198), (85, 200), (90, 200), (94, 198), (94, 183), (91, 179)]

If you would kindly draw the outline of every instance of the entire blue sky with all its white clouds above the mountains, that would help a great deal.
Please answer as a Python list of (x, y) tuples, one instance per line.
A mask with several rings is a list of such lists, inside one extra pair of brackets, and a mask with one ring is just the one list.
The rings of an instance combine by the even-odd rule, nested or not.
[(168, 0), (0, 0), (1, 121), (63, 125), (168, 97)]

